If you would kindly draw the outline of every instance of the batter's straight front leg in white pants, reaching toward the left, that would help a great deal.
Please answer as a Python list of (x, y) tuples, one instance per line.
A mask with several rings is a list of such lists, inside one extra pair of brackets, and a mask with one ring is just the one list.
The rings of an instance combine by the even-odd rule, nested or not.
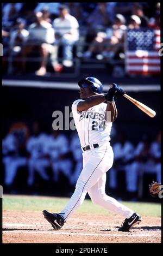
[(113, 152), (109, 145), (104, 145), (101, 150), (96, 149), (84, 153), (84, 167), (78, 178), (76, 189), (65, 209), (61, 211), (65, 219), (70, 218), (73, 212), (82, 205), (87, 191), (98, 182), (113, 163)]

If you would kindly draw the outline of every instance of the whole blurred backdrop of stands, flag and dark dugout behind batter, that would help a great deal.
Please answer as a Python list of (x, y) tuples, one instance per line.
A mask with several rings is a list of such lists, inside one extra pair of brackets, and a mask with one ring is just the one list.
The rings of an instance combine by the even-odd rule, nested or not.
[[(79, 98), (78, 81), (115, 82), (156, 111), (118, 98), (106, 192), (155, 201), (161, 181), (160, 2), (2, 3), (4, 193), (71, 196), (82, 170), (76, 131), (54, 131), (54, 111)], [(72, 117), (70, 117), (70, 121)], [(65, 124), (65, 122), (64, 122)]]

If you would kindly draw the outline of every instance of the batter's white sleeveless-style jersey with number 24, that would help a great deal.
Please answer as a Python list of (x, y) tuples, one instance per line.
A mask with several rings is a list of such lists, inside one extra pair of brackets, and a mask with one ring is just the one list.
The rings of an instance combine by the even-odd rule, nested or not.
[(72, 104), (72, 113), (76, 125), (80, 144), (85, 147), (101, 141), (110, 141), (112, 122), (106, 122), (106, 104), (101, 103), (86, 111), (79, 112), (77, 105), (82, 99), (75, 100)]

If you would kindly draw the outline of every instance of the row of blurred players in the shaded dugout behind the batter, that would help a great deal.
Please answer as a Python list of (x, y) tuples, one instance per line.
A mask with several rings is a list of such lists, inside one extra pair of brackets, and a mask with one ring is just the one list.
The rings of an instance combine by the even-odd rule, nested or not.
[[(161, 132), (151, 140), (147, 134), (134, 144), (124, 131), (111, 134), (114, 137), (114, 165), (108, 171), (107, 186), (118, 189), (117, 175), (124, 172), (127, 192), (137, 197), (144, 174), (153, 174), (161, 181)], [(111, 139), (112, 141), (112, 139)], [(24, 123), (15, 123), (3, 138), (4, 187), (12, 188), (17, 172), (28, 171), (27, 187), (35, 186), (35, 174), (42, 181), (74, 187), (83, 168), (82, 149), (77, 132), (66, 136), (60, 130), (50, 134), (41, 129), (39, 122), (33, 122), (32, 131)], [(49, 175), (48, 170), (51, 170)], [(21, 181), (19, 181), (21, 182)]]

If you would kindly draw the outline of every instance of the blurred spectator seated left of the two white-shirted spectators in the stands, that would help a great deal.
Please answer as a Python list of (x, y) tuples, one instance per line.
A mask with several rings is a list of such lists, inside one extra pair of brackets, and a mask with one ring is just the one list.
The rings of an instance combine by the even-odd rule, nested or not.
[[(23, 44), (28, 40), (29, 32), (25, 29), (26, 21), (22, 18), (16, 20), (16, 25), (13, 31), (10, 33), (10, 56), (22, 57)], [(11, 63), (10, 63), (11, 64)], [(14, 70), (13, 70), (14, 68)], [(16, 70), (15, 70), (16, 68)], [(21, 73), (22, 61), (16, 61), (16, 65), (13, 63), (10, 66), (10, 73), (13, 71), (18, 74)]]

